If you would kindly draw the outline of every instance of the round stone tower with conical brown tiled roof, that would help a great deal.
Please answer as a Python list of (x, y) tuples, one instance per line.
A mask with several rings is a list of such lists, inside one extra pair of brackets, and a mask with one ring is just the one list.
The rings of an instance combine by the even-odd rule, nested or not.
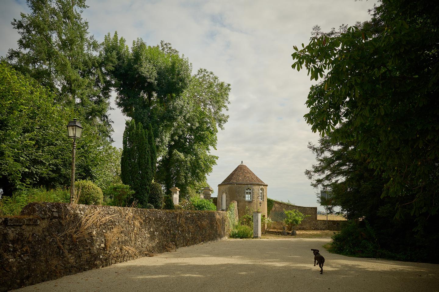
[[(226, 210), (231, 201), (237, 201), (238, 217), (250, 211), (262, 212), (267, 216), (267, 184), (257, 177), (242, 162), (218, 185), (217, 210)], [(259, 204), (261, 203), (261, 204)], [(252, 215), (252, 214), (250, 214)]]

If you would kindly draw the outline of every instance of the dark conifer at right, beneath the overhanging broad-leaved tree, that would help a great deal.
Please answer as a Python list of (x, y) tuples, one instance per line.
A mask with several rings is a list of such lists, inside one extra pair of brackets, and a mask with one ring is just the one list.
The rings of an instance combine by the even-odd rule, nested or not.
[[(401, 204), (401, 199), (414, 200), (415, 194), (381, 198), (386, 179), (369, 167), (367, 158), (356, 158), (357, 142), (334, 142), (331, 135), (321, 137), (319, 145), (309, 144), (318, 163), (305, 172), (312, 186), (332, 190), (332, 201), (348, 219), (333, 236), (331, 250), (356, 257), (437, 262), (439, 252), (431, 250), (438, 239), (437, 223), (428, 222), (424, 233), (417, 234), (416, 215), (409, 204)], [(400, 218), (395, 217), (398, 205)]]

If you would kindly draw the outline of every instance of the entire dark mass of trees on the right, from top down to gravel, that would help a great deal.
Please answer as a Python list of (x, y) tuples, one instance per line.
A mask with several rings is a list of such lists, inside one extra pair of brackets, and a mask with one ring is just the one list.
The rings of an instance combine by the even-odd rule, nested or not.
[(295, 48), (293, 67), (322, 78), (305, 117), (324, 137), (309, 145), (318, 164), (306, 175), (349, 220), (338, 253), (439, 262), (437, 13), (430, 1), (383, 0), (371, 21), (316, 27)]

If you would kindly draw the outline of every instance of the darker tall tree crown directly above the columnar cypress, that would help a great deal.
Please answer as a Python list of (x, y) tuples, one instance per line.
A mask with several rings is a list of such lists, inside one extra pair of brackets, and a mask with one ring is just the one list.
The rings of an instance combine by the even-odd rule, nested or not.
[(152, 125), (157, 153), (162, 155), (181, 123), (175, 101), (190, 82), (191, 64), (164, 42), (147, 46), (139, 38), (130, 50), (117, 32), (105, 36), (102, 49), (105, 70), (117, 92), (117, 106), (144, 128)]

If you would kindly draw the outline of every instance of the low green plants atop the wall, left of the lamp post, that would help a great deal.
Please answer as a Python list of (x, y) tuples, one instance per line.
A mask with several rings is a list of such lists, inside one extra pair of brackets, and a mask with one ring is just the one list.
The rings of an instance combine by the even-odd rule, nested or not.
[(70, 191), (67, 189), (46, 190), (42, 187), (20, 190), (11, 197), (0, 199), (0, 216), (20, 215), (22, 209), (33, 202), (70, 202)]

